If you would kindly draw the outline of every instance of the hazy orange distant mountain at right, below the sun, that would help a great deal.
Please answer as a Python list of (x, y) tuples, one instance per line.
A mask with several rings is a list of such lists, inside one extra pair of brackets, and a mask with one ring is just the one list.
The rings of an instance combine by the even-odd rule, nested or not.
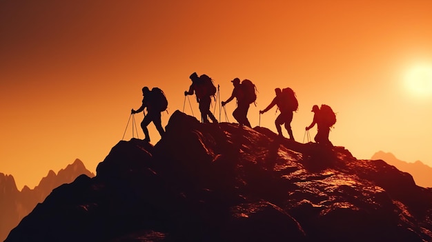
[(373, 154), (371, 159), (386, 161), (386, 163), (394, 165), (397, 169), (411, 174), (417, 185), (424, 188), (432, 188), (432, 168), (429, 165), (422, 163), (422, 161), (415, 161), (414, 163), (401, 161), (391, 152), (384, 152), (382, 150)]

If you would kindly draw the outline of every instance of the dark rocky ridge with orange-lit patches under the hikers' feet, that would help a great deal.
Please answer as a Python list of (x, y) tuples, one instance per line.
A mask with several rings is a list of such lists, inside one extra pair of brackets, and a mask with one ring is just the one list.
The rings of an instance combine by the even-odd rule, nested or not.
[(432, 190), (384, 161), (177, 111), (157, 145), (120, 141), (6, 241), (431, 241), (431, 214)]

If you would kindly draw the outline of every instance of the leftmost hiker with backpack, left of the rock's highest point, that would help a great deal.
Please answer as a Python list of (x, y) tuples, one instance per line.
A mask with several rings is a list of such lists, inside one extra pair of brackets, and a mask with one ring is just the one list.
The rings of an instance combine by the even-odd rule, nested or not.
[(148, 134), (147, 126), (152, 121), (161, 137), (164, 137), (165, 131), (161, 125), (161, 112), (166, 110), (168, 101), (166, 101), (164, 92), (159, 88), (153, 88), (150, 91), (148, 87), (144, 87), (142, 88), (142, 92), (143, 99), (141, 107), (139, 107), (137, 110), (133, 110), (132, 108), (131, 113), (136, 114), (138, 112), (143, 112), (144, 108), (147, 108), (147, 114), (144, 113), (144, 119), (141, 122), (141, 128), (145, 135), (144, 141), (150, 142), (150, 135)]

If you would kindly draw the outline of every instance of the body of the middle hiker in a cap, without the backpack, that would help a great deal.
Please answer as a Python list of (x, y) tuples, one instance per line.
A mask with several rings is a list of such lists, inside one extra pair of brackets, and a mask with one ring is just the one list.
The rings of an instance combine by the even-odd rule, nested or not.
[[(251, 105), (251, 100), (248, 100), (246, 97), (247, 94), (245, 93), (244, 88), (242, 88), (242, 84), (240, 84), (240, 79), (237, 77), (231, 81), (234, 85), (233, 93), (231, 94), (231, 97), (229, 97), (226, 101), (222, 101), (222, 106), (225, 106), (226, 103), (229, 103), (234, 98), (237, 99), (237, 108), (233, 112), (233, 117), (237, 122), (239, 122), (239, 125), (246, 125), (249, 128), (251, 128), (251, 123), (249, 123), (248, 120), (248, 110), (249, 105)], [(254, 86), (255, 88), (255, 86)], [(256, 99), (256, 96), (255, 96)], [(255, 101), (255, 99), (253, 101)], [(252, 102), (253, 102), (252, 101)]]

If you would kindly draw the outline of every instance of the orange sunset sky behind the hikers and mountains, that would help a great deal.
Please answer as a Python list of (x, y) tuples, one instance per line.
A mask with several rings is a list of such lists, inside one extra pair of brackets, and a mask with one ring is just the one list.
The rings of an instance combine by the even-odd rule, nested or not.
[[(141, 105), (141, 88), (163, 89), (171, 114), (192, 72), (215, 79), (222, 100), (234, 77), (254, 81), (253, 126), (274, 88), (289, 86), (300, 102), (297, 141), (312, 105), (326, 103), (337, 112), (331, 141), (357, 159), (384, 150), (432, 166), (432, 92), (404, 84), (412, 68), (432, 68), (431, 12), (429, 0), (1, 1), (0, 172), (19, 189), (76, 158), (95, 172)], [(226, 108), (234, 121), (235, 103)], [(275, 131), (275, 117), (273, 108), (261, 125)], [(153, 124), (150, 132), (155, 143)]]

